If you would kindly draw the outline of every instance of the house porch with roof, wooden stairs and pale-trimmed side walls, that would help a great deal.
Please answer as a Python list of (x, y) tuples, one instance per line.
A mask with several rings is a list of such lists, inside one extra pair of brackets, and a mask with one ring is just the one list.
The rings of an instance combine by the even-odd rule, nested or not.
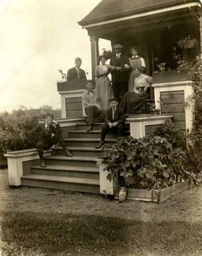
[[(194, 55), (202, 48), (201, 21), (201, 2), (198, 0), (102, 0), (79, 21), (79, 25), (88, 30), (91, 39), (92, 74), (98, 64), (99, 38), (103, 38), (111, 40), (111, 46), (121, 43), (126, 51), (132, 45), (140, 46), (147, 72), (157, 75), (153, 84), (154, 97), (156, 108), (161, 110), (162, 115), (127, 118), (133, 137), (141, 138), (152, 132), (156, 125), (171, 118), (182, 132), (192, 129), (193, 109), (185, 104), (193, 93), (192, 79), (186, 74), (179, 76), (170, 71), (164, 72), (165, 76), (159, 79), (161, 72), (154, 75), (153, 71), (156, 70), (157, 58), (166, 62), (170, 69), (174, 67), (173, 47), (183, 38), (189, 36), (197, 42), (194, 47), (185, 47), (188, 57), (190, 48)], [(67, 82), (58, 83), (62, 111), (59, 122), (73, 157), (61, 156), (61, 148), (56, 147), (55, 155), (51, 150), (46, 152), (49, 166), (44, 169), (38, 165), (34, 149), (7, 153), (10, 185), (102, 193), (100, 183), (105, 182), (106, 174), (102, 168), (99, 171), (96, 165), (95, 159), (101, 151), (94, 149), (100, 141), (100, 126), (97, 125), (92, 132), (85, 132), (81, 98), (84, 85), (76, 86), (71, 87)], [(116, 139), (108, 135), (107, 141), (114, 143)]]

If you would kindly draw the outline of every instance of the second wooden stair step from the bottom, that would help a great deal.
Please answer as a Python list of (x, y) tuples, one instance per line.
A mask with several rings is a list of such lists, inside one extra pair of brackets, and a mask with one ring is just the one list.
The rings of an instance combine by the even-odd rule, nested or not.
[(31, 174), (50, 175), (58, 177), (77, 177), (99, 180), (99, 167), (85, 167), (72, 165), (48, 165), (46, 168), (39, 165), (31, 166)]

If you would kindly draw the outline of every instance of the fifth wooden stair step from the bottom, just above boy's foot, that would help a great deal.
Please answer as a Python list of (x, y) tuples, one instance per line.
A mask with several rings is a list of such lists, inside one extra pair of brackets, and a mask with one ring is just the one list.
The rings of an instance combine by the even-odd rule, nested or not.
[[(100, 138), (65, 138), (67, 147), (95, 147), (99, 142)], [(115, 138), (106, 138), (106, 143), (116, 143)]]

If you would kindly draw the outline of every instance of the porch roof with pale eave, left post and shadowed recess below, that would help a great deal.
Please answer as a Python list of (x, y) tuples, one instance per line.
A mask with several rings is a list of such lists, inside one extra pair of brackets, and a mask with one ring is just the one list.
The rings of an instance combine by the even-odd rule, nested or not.
[(155, 70), (155, 60), (174, 67), (177, 41), (191, 35), (202, 38), (201, 1), (198, 0), (102, 0), (79, 21), (91, 40), (92, 74), (98, 63), (99, 38), (120, 43), (126, 52), (140, 47), (148, 73)]

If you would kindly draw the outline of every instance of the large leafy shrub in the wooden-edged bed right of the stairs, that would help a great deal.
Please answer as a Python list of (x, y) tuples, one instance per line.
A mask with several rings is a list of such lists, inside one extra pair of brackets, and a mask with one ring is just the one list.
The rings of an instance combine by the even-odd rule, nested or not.
[(191, 177), (186, 152), (173, 148), (166, 138), (119, 138), (103, 147), (108, 179), (124, 177), (126, 186), (136, 189), (163, 189)]

